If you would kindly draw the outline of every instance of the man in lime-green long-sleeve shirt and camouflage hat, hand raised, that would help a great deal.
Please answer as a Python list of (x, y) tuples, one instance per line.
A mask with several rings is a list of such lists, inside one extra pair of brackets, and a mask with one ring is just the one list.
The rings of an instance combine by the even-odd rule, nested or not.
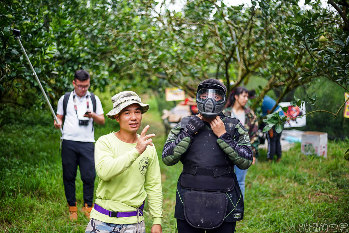
[(113, 109), (107, 117), (116, 119), (120, 130), (100, 137), (95, 145), (99, 182), (86, 233), (145, 233), (146, 198), (153, 215), (151, 233), (162, 233), (161, 174), (151, 139), (155, 134), (146, 135), (149, 125), (137, 134), (149, 105), (130, 91), (116, 94), (112, 101)]

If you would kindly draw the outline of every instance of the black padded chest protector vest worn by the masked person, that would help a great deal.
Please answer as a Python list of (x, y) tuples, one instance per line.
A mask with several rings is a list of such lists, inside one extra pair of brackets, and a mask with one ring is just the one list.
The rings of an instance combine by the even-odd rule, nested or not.
[[(189, 117), (182, 118), (185, 129)], [(234, 138), (238, 119), (226, 117), (225, 130)], [(223, 221), (243, 219), (244, 201), (234, 173), (234, 163), (217, 143), (217, 136), (204, 127), (182, 154), (183, 172), (177, 184), (174, 217), (197, 228), (213, 229)]]

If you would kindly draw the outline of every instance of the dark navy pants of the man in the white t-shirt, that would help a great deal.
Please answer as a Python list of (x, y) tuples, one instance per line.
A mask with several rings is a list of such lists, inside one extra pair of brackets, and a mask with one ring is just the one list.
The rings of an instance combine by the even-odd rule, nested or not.
[(95, 185), (95, 146), (93, 143), (63, 140), (62, 168), (63, 183), (67, 202), (75, 206), (75, 178), (77, 165), (80, 168), (83, 182), (83, 198), (88, 206), (92, 206)]

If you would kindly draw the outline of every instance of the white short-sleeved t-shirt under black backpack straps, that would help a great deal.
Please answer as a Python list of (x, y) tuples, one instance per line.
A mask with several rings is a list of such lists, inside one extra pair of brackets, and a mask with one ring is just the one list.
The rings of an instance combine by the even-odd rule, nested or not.
[[(89, 102), (89, 110), (93, 111), (93, 103), (91, 101), (91, 94), (89, 91), (86, 92), (86, 94), (82, 97), (79, 97), (75, 95), (75, 102), (76, 102), (76, 109), (77, 109), (77, 116), (74, 109), (74, 100), (73, 100), (73, 93), (75, 94), (75, 91), (70, 93), (68, 103), (67, 103), (67, 115), (65, 117), (65, 121), (63, 124), (63, 139), (65, 140), (71, 140), (71, 141), (83, 141), (83, 142), (95, 142), (95, 130), (92, 127), (92, 118), (84, 117), (83, 115), (87, 111), (87, 95), (89, 96), (88, 102)], [(96, 96), (96, 115), (102, 115), (104, 114), (101, 100), (99, 100), (98, 96)], [(64, 95), (60, 97), (58, 100), (57, 105), (57, 114), (63, 115), (63, 99)], [(80, 120), (89, 120), (88, 125), (79, 125), (79, 119)]]

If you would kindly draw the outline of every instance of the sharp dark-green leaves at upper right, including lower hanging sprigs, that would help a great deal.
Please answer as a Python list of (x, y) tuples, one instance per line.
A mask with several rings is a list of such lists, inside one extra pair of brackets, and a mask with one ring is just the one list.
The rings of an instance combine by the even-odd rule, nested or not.
[[(307, 3), (309, 3), (309, 1)], [(298, 48), (294, 47), (294, 53), (306, 51), (306, 55), (310, 56), (310, 60), (306, 61), (306, 63), (304, 64), (305, 69), (300, 73), (301, 77), (299, 77), (298, 80), (305, 78), (309, 81), (315, 81), (316, 79), (314, 78), (323, 76), (326, 77), (329, 81), (336, 83), (336, 85), (342, 88), (342, 91), (349, 91), (349, 31), (343, 30), (343, 28), (341, 27), (327, 27), (324, 22), (332, 20), (333, 15), (328, 14), (328, 12), (326, 11), (320, 12), (319, 9), (321, 9), (319, 2), (316, 2), (312, 6), (312, 10), (307, 10), (307, 12), (301, 15), (301, 17), (296, 17), (293, 21), (291, 20), (289, 22), (290, 24), (288, 24), (286, 28), (283, 29), (283, 31), (287, 35), (286, 37), (298, 45)], [(337, 22), (338, 24), (340, 24), (340, 19), (336, 20), (338, 20)], [(329, 39), (321, 34), (327, 34)], [(310, 83), (304, 83), (304, 87), (309, 86)], [(287, 88), (285, 89), (285, 92), (286, 91), (288, 91)], [(332, 114), (334, 118), (336, 118), (340, 114), (340, 110), (343, 108), (344, 104), (336, 103), (335, 109), (333, 109), (333, 105), (329, 106), (329, 108), (321, 108), (324, 105), (321, 106), (317, 101), (317, 94), (322, 98), (324, 98), (325, 96), (327, 98), (328, 96), (321, 95), (320, 93), (323, 91), (320, 89), (318, 89), (316, 92), (317, 93), (313, 93), (312, 97), (307, 94), (307, 97), (309, 99), (309, 102), (307, 103), (310, 103), (315, 108), (317, 108), (312, 112), (309, 111), (309, 109), (311, 108), (307, 108), (307, 114), (313, 112), (327, 112), (329, 114)], [(281, 98), (279, 98), (279, 100), (280, 99)], [(295, 97), (295, 99), (291, 101), (291, 104), (293, 106), (298, 105), (299, 107), (301, 107), (304, 102), (305, 99), (300, 100)], [(345, 101), (341, 100), (339, 101), (339, 103), (340, 102), (343, 103)], [(319, 115), (317, 115), (317, 117), (318, 116)], [(268, 121), (266, 122), (268, 123)], [(333, 127), (335, 131), (340, 128)], [(343, 128), (345, 128), (345, 124)], [(343, 131), (346, 132), (344, 129)], [(343, 133), (338, 133), (338, 131), (335, 134), (343, 135)], [(344, 136), (345, 135), (346, 134), (344, 133)]]

